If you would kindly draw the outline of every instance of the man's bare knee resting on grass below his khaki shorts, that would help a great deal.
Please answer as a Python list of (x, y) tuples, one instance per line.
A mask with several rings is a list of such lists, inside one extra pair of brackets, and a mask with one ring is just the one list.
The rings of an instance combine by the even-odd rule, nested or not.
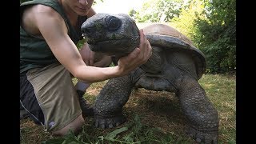
[(78, 134), (82, 129), (82, 125), (85, 123), (85, 120), (82, 118), (82, 114), (74, 121), (70, 122), (67, 126), (63, 127), (60, 130), (53, 131), (52, 134), (56, 136), (64, 136), (68, 133), (69, 130), (72, 130), (74, 134)]

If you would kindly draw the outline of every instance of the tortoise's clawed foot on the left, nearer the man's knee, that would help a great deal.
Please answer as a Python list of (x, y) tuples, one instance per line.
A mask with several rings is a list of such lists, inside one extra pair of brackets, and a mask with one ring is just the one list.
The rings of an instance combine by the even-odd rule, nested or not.
[(120, 126), (124, 122), (126, 122), (126, 116), (124, 115), (118, 115), (111, 118), (100, 118), (95, 115), (94, 126), (101, 129), (108, 129)]

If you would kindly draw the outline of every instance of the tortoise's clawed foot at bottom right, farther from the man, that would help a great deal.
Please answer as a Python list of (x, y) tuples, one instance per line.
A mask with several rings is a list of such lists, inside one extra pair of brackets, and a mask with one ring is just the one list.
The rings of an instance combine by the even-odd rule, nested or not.
[(200, 131), (190, 127), (188, 130), (186, 130), (186, 134), (188, 134), (198, 143), (218, 144), (218, 130)]

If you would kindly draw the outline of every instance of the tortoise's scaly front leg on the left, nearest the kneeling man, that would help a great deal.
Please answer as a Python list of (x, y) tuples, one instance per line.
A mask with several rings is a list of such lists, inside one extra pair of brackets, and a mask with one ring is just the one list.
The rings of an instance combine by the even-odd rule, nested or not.
[(128, 101), (133, 87), (130, 74), (110, 79), (106, 83), (94, 105), (96, 127), (112, 128), (126, 121), (126, 117), (122, 114), (122, 107)]

